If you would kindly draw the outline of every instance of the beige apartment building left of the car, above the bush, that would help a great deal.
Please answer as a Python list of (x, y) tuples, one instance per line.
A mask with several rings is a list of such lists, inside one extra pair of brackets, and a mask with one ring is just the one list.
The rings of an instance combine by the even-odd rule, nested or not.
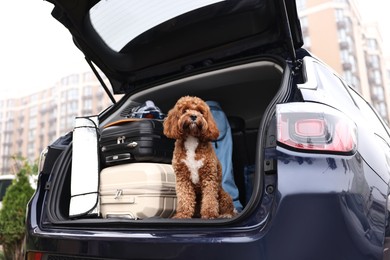
[(11, 156), (36, 160), (47, 145), (73, 129), (76, 116), (95, 115), (110, 104), (92, 72), (63, 77), (31, 95), (0, 99), (0, 174), (11, 172)]

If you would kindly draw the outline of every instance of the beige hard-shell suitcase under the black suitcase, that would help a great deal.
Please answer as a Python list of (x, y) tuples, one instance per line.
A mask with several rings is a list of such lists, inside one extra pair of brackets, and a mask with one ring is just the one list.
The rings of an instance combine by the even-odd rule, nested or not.
[(129, 163), (101, 171), (103, 218), (169, 218), (175, 210), (175, 174), (171, 164)]

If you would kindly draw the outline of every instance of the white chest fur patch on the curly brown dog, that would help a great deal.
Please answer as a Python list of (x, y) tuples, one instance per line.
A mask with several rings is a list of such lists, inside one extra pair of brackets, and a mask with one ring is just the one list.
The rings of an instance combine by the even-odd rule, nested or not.
[(198, 147), (198, 144), (198, 139), (193, 136), (189, 136), (184, 142), (187, 156), (185, 159), (183, 159), (183, 162), (187, 165), (191, 173), (191, 180), (194, 184), (199, 182), (199, 169), (203, 166), (203, 159), (195, 159), (195, 150)]

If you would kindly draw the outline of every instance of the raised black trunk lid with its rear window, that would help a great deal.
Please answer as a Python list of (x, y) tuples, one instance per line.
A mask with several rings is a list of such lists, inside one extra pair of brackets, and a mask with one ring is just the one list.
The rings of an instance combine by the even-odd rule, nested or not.
[(303, 44), (295, 1), (48, 1), (115, 94), (271, 50), (294, 63)]

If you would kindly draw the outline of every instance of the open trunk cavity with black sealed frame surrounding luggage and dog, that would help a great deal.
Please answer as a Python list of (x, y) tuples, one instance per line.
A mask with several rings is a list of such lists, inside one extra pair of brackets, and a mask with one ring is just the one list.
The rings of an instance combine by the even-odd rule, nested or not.
[[(290, 69), (283, 61), (272, 57), (246, 61), (245, 64), (226, 64), (225, 67), (203, 71), (192, 76), (172, 80), (123, 97), (122, 101), (100, 118), (100, 127), (126, 118), (131, 108), (146, 100), (154, 103), (167, 113), (176, 101), (185, 95), (198, 96), (203, 100), (217, 101), (227, 115), (232, 129), (233, 169), (236, 185), (240, 193), (240, 201), (244, 206), (242, 213), (233, 219), (213, 221), (190, 219), (193, 223), (228, 223), (249, 214), (251, 207), (259, 202), (263, 192), (263, 146), (265, 132), (270, 124), (274, 106), (283, 102), (287, 96), (286, 82)], [(272, 128), (275, 129), (275, 128)], [(271, 130), (275, 131), (275, 130)], [(69, 217), (70, 183), (72, 165), (72, 145), (59, 157), (51, 176), (52, 187), (48, 196), (48, 220), (57, 224), (98, 224), (102, 223), (176, 223), (169, 218), (149, 218), (125, 220), (102, 218), (99, 214), (91, 214), (77, 218)], [(253, 167), (254, 178), (245, 178), (244, 168)], [(129, 173), (131, 174), (131, 173)], [(249, 185), (248, 182), (249, 180)], [(85, 184), (87, 185), (87, 183)], [(249, 190), (248, 190), (249, 189)], [(251, 191), (253, 190), (253, 192)], [(250, 195), (252, 192), (252, 195)], [(180, 223), (183, 223), (181, 220)]]

